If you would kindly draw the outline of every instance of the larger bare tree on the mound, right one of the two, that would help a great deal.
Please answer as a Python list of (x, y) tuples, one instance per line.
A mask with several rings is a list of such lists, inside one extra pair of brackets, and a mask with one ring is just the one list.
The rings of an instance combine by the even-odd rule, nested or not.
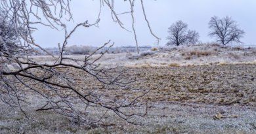
[(226, 44), (243, 44), (240, 41), (244, 37), (244, 30), (238, 28), (236, 21), (232, 20), (231, 17), (226, 16), (225, 18), (218, 18), (213, 16), (209, 22), (209, 31), (208, 36), (215, 38), (217, 42), (220, 42), (223, 45)]

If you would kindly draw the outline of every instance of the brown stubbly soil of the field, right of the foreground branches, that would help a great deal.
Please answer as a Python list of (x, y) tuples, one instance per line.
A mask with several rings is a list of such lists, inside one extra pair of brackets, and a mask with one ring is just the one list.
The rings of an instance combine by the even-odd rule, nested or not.
[(256, 105), (256, 65), (211, 65), (134, 69), (140, 86), (159, 86), (150, 101)]

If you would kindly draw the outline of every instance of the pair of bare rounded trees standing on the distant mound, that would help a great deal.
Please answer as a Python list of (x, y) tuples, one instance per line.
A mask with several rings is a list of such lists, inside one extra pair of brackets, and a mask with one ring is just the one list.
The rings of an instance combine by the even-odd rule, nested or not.
[[(208, 36), (215, 39), (220, 44), (244, 44), (240, 39), (245, 35), (245, 31), (238, 27), (236, 21), (231, 17), (219, 18), (213, 16), (208, 23)], [(168, 28), (169, 36), (167, 37), (167, 46), (181, 44), (196, 44), (200, 37), (198, 31), (188, 29), (188, 24), (181, 20), (175, 22)]]

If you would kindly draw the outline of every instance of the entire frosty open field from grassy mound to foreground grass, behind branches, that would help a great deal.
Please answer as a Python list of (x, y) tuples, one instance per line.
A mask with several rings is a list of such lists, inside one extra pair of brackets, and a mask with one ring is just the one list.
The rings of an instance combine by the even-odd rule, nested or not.
[[(133, 78), (139, 79), (131, 85), (135, 88), (158, 87), (139, 99), (149, 105), (144, 118), (131, 119), (138, 125), (128, 124), (111, 111), (94, 126), (74, 125), (51, 110), (35, 112), (43, 107), (43, 99), (28, 95), (33, 104), (26, 109), (30, 119), (0, 103), (0, 133), (256, 133), (253, 48), (211, 45), (168, 49), (145, 55), (107, 54), (97, 61), (105, 67), (125, 66)], [(33, 58), (41, 63), (54, 61), (47, 56)], [(90, 88), (101, 86), (93, 78), (88, 80)], [(108, 91), (110, 97), (117, 98), (124, 97), (124, 92), (131, 96), (135, 93)], [(100, 107), (91, 110), (95, 112), (90, 116), (104, 112)], [(218, 120), (214, 118), (216, 112), (241, 117)]]

